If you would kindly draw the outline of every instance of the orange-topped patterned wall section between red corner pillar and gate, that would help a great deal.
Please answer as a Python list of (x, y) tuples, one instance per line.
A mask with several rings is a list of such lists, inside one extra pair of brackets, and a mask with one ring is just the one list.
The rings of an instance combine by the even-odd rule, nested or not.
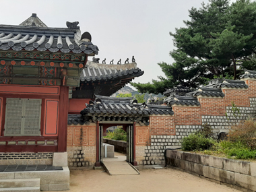
[(67, 127), (67, 156), (69, 166), (94, 166), (96, 162), (96, 125)]

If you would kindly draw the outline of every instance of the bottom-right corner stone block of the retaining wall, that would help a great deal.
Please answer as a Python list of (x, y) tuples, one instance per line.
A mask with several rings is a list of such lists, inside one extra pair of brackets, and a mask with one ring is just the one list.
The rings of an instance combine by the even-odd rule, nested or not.
[(256, 177), (246, 174), (234, 173), (235, 185), (256, 191)]

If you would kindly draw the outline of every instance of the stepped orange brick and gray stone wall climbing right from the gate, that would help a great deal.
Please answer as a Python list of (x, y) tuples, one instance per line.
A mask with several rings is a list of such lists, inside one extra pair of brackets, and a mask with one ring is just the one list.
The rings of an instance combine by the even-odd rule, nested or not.
[[(171, 146), (181, 146), (183, 138), (199, 131), (202, 124), (211, 125), (217, 137), (220, 132), (228, 132), (232, 123), (245, 119), (249, 114), (256, 114), (256, 81), (245, 82), (248, 89), (223, 88), (224, 98), (199, 96), (199, 107), (172, 106), (173, 116), (150, 117), (150, 143), (143, 146), (144, 152), (136, 146), (136, 154), (139, 155), (136, 159), (139, 164), (164, 164), (164, 150)], [(240, 110), (239, 117), (232, 115), (231, 102)]]

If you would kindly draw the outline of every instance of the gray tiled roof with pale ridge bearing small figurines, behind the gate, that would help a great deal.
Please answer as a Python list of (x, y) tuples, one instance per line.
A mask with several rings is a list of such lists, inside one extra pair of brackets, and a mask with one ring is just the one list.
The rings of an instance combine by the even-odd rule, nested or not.
[(86, 68), (84, 68), (81, 73), (80, 79), (82, 82), (94, 82), (98, 80), (139, 77), (143, 75), (143, 73), (144, 71), (137, 68), (136, 63), (109, 65), (88, 61)]

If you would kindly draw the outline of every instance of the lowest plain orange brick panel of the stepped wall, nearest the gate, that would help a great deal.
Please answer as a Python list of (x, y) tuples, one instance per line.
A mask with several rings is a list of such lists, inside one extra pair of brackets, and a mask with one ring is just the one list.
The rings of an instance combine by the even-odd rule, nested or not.
[(150, 131), (152, 135), (174, 135), (174, 117), (151, 116)]

